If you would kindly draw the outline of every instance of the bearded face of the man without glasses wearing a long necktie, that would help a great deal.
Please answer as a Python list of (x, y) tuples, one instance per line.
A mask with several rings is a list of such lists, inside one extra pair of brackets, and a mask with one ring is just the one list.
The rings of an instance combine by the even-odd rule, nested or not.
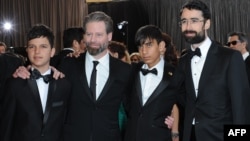
[(103, 21), (93, 21), (86, 24), (84, 39), (87, 51), (98, 59), (108, 51), (108, 44), (112, 39), (112, 33), (106, 32), (106, 26)]

